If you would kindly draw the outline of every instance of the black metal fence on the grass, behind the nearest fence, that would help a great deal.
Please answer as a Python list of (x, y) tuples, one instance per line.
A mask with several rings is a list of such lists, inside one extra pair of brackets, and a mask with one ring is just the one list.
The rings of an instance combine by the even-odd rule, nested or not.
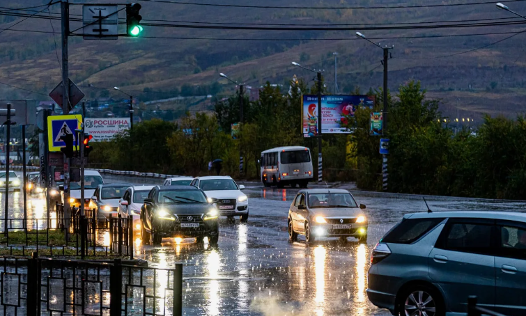
[(133, 223), (131, 218), (99, 219), (96, 214), (65, 217), (58, 205), (54, 218), (0, 219), (0, 255), (29, 256), (36, 252), (47, 257), (133, 258)]

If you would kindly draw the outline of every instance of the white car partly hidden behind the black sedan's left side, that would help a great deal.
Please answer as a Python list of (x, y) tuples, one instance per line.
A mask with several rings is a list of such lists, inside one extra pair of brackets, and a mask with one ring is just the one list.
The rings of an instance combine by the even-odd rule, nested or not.
[(141, 207), (153, 187), (153, 185), (138, 185), (127, 188), (118, 205), (118, 214), (123, 217), (132, 216), (133, 227), (139, 233), (141, 232)]

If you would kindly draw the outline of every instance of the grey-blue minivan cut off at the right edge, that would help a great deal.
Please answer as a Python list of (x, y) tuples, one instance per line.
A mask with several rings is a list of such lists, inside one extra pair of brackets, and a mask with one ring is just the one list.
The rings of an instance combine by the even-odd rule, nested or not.
[(526, 214), (407, 214), (371, 253), (367, 296), (393, 315), (465, 315), (470, 295), (526, 315)]

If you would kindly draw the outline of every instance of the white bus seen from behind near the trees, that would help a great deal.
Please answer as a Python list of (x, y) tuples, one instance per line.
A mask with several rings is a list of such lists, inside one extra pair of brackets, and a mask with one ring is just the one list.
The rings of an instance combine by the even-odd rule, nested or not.
[(306, 188), (313, 177), (311, 151), (307, 147), (278, 147), (261, 152), (261, 182), (265, 187), (291, 184)]

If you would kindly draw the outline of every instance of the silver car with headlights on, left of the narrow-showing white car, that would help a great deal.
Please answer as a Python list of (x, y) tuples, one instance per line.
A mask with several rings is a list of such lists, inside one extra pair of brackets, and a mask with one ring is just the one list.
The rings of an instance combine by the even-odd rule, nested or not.
[(91, 196), (89, 209), (96, 211), (98, 218), (118, 216), (118, 205), (121, 198), (126, 189), (131, 186), (130, 183), (99, 184)]

